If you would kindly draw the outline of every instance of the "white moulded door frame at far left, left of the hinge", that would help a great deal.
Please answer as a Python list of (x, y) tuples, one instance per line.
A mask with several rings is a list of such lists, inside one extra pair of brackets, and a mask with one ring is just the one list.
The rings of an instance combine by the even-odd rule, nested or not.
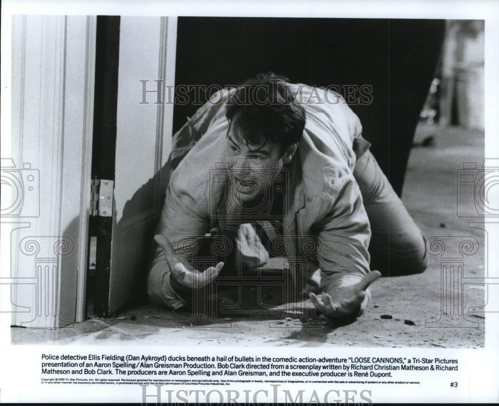
[(2, 215), (12, 324), (58, 328), (85, 316), (96, 17), (14, 15), (11, 28), (12, 148), (2, 158), (16, 170), (2, 175), (24, 188), (19, 212)]

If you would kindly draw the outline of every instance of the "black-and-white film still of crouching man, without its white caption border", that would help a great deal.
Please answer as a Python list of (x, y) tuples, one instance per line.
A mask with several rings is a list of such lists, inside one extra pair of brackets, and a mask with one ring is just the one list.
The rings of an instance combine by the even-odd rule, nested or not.
[[(80, 161), (91, 144), (88, 199), (76, 192), (85, 174), (65, 170), (64, 150), (57, 174), (80, 205), (64, 199), (60, 208), (91, 203), (89, 218), (71, 219), (60, 241), (40, 241), (29, 228), (16, 235), (19, 256), (36, 266), (16, 271), (40, 278), (38, 300), (55, 306), (40, 309), (45, 323), (85, 321), (57, 336), (14, 327), (14, 341), (483, 346), (485, 233), (468, 224), (495, 209), (484, 195), (483, 21), (89, 19), (12, 22), (21, 35), (12, 63), (24, 70), (13, 78), (24, 94), (12, 119), (21, 116), (26, 144), (45, 106), (29, 109), (40, 101), (26, 93), (39, 89), (23, 80), (53, 78), (53, 70), (37, 76), (30, 59), (39, 64), (40, 54), (29, 48), (43, 51), (63, 29), (66, 41), (81, 40), (92, 23), (96, 41), (93, 112), (74, 117), (81, 126), (82, 113), (93, 115), (88, 143), (77, 134)], [(52, 38), (50, 56), (74, 52), (58, 49), (63, 43)], [(60, 96), (76, 104), (78, 94), (66, 85)], [(74, 130), (64, 125), (61, 138)], [(36, 146), (53, 147), (52, 135)], [(34, 152), (41, 161), (43, 150)], [(14, 165), (2, 165), (2, 175), (23, 185), (37, 171)], [(54, 181), (35, 179), (34, 192), (45, 195)], [(15, 197), (27, 201), (23, 192)], [(31, 202), (12, 208), (22, 203)], [(41, 222), (53, 203), (36, 203)], [(88, 241), (78, 239), (82, 223)], [(57, 246), (49, 261), (60, 266), (58, 286), (55, 266), (37, 260)], [(84, 269), (80, 250), (89, 250)], [(80, 283), (84, 304), (75, 303)], [(32, 286), (16, 290), (14, 304), (29, 305)], [(45, 327), (31, 316), (15, 314), (14, 326)]]

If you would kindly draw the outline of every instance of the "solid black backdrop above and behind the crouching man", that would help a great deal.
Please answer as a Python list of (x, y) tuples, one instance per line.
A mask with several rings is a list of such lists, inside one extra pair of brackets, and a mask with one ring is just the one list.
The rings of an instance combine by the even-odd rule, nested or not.
[[(179, 17), (175, 84), (236, 85), (272, 71), (308, 85), (372, 85), (351, 105), (400, 195), (445, 20)], [(176, 105), (174, 132), (199, 105)]]

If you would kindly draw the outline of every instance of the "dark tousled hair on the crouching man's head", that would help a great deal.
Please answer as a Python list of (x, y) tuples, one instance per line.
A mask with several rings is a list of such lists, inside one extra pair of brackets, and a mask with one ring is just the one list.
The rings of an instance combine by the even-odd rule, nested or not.
[(294, 101), (288, 79), (273, 73), (260, 73), (230, 94), (226, 117), (236, 139), (253, 151), (269, 141), (284, 152), (305, 128), (305, 110)]

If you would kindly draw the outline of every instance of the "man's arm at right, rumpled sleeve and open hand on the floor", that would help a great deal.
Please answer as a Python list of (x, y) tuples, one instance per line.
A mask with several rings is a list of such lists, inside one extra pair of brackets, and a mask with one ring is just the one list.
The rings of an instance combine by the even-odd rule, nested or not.
[(369, 271), (369, 220), (351, 173), (326, 171), (326, 181), (321, 212), (327, 214), (314, 226), (322, 244), (318, 260), (323, 293), (310, 299), (326, 317), (354, 318), (366, 309), (369, 285), (380, 275)]

